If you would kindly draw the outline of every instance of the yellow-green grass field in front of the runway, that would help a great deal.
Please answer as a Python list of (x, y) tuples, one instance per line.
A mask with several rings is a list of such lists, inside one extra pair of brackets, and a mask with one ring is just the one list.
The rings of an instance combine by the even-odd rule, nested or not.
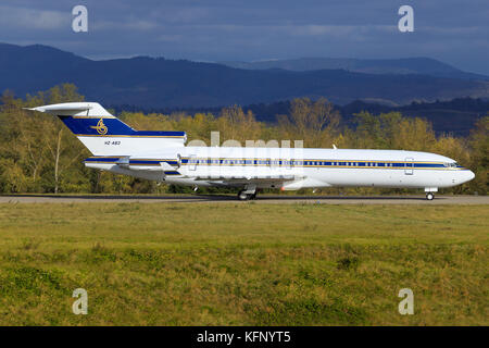
[(488, 325), (488, 237), (489, 206), (0, 204), (0, 324)]

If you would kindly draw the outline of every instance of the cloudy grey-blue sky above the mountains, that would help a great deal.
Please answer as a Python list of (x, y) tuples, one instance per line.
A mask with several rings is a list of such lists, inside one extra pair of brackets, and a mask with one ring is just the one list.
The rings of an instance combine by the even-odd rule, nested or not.
[[(88, 9), (88, 33), (72, 9)], [(414, 33), (398, 10), (414, 9)], [(106, 59), (429, 57), (489, 74), (488, 0), (1, 0), (0, 41)]]

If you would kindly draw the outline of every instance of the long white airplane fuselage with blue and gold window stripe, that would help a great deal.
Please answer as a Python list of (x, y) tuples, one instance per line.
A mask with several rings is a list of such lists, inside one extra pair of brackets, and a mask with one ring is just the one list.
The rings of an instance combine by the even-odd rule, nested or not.
[[(126, 167), (118, 159), (93, 157), (86, 164), (176, 185), (242, 186), (255, 178), (256, 188), (281, 189), (372, 186), (436, 191), (474, 177), (447, 157), (403, 150), (181, 147), (161, 156), (131, 156)], [(162, 171), (161, 162), (177, 171)]]

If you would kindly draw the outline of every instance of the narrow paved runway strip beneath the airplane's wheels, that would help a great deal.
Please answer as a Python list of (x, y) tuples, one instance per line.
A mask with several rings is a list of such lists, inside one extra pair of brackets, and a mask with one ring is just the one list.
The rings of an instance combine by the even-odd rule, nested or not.
[[(0, 196), (0, 203), (104, 203), (104, 202), (237, 202), (233, 196), (55, 196), (55, 195), (14, 195)], [(323, 203), (323, 204), (489, 204), (489, 196), (436, 196), (428, 201), (425, 196), (258, 196), (256, 203)]]

